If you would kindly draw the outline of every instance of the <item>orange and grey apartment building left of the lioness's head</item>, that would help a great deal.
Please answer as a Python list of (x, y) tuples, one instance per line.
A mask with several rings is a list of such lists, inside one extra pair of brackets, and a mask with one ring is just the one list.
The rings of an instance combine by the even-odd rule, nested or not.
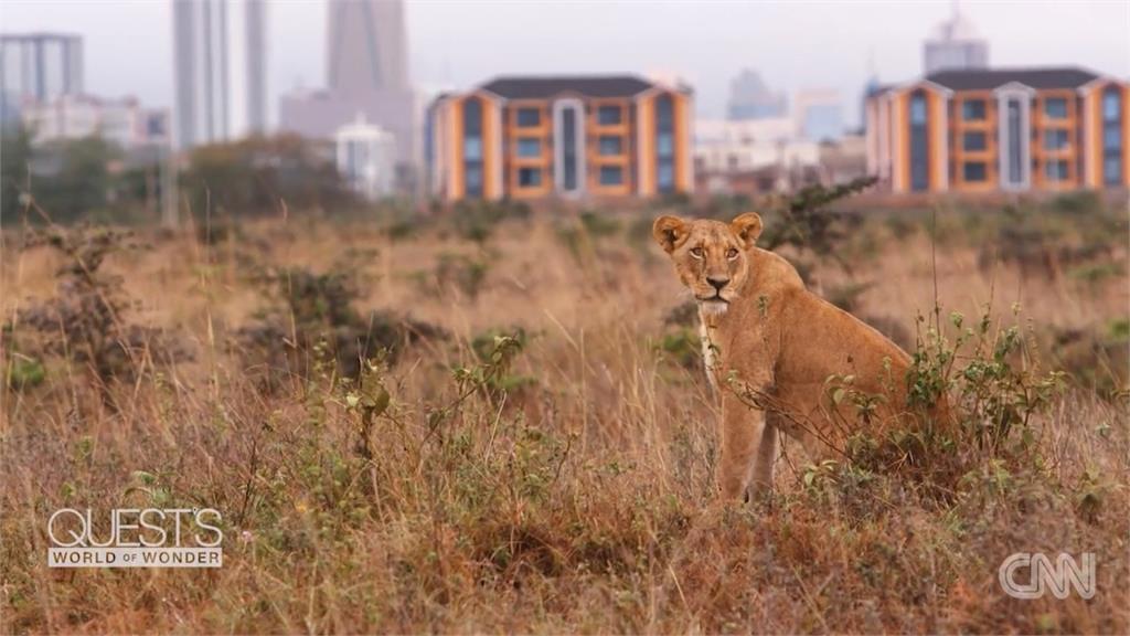
[(428, 109), (444, 200), (690, 192), (690, 91), (634, 76), (505, 77)]

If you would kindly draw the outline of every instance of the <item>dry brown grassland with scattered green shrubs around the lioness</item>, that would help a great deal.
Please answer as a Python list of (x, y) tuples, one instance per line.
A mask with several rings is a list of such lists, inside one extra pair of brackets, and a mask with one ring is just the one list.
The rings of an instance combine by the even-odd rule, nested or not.
[[(1124, 203), (765, 210), (966, 432), (786, 444), (734, 509), (658, 210), (527, 212), (8, 218), (0, 630), (1130, 630)], [(225, 565), (50, 569), (64, 506), (214, 507)], [(1097, 594), (1007, 596), (1018, 551), (1094, 552)]]

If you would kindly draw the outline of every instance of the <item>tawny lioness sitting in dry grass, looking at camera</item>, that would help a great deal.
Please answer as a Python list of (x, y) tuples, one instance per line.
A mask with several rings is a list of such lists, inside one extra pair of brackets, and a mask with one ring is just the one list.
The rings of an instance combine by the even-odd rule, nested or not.
[(851, 428), (902, 415), (910, 356), (754, 247), (756, 213), (729, 225), (661, 216), (652, 233), (698, 303), (706, 373), (722, 398), (723, 497), (772, 487), (779, 429), (826, 455)]

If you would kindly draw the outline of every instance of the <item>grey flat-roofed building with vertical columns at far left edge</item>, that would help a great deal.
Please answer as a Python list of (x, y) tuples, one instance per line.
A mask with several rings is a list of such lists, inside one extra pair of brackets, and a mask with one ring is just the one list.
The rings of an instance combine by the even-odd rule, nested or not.
[(0, 121), (27, 102), (82, 93), (82, 38), (62, 33), (0, 35)]

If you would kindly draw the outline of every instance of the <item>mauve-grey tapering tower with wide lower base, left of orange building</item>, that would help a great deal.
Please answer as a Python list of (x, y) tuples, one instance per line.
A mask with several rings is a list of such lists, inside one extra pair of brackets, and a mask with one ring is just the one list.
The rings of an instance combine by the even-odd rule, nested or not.
[(400, 172), (419, 163), (420, 104), (408, 79), (401, 0), (328, 2), (324, 89), (296, 89), (279, 103), (279, 127), (329, 139), (360, 112), (397, 140)]

